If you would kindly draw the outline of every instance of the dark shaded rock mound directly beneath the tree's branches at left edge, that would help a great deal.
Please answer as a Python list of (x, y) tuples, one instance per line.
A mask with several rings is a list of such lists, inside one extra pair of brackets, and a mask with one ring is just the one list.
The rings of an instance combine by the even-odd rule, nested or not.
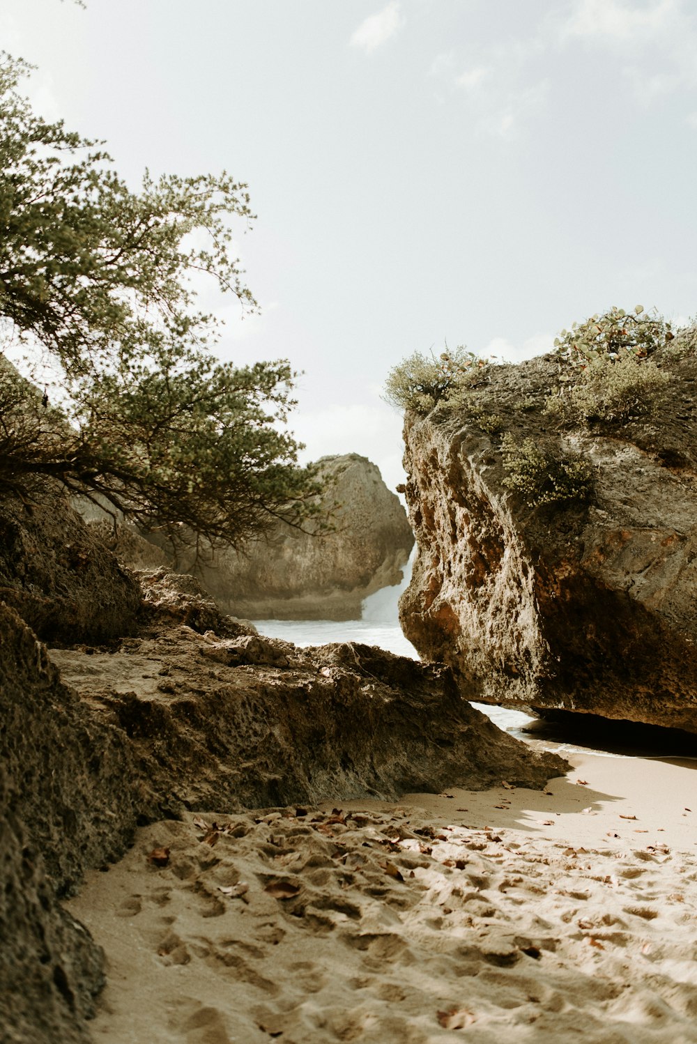
[(140, 609), (138, 582), (50, 479), (0, 498), (0, 598), (50, 642), (133, 634)]

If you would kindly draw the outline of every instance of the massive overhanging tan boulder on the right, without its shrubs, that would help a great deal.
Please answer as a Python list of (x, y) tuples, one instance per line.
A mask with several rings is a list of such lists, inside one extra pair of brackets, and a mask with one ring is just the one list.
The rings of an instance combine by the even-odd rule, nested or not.
[[(697, 732), (697, 358), (659, 361), (664, 401), (622, 427), (542, 412), (553, 356), (492, 367), (476, 416), (407, 417), (418, 554), (401, 620), (471, 698)], [(502, 430), (487, 434), (482, 414)], [(505, 431), (592, 461), (591, 501), (531, 508), (512, 495)]]

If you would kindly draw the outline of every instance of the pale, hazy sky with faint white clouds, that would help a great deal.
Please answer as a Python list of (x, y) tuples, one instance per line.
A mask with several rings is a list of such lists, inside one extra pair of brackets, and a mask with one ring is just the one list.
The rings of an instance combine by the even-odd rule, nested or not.
[(137, 188), (227, 170), (261, 314), (219, 354), (302, 372), (306, 459), (402, 481), (414, 352), (510, 361), (617, 305), (697, 313), (694, 0), (0, 0), (50, 119)]

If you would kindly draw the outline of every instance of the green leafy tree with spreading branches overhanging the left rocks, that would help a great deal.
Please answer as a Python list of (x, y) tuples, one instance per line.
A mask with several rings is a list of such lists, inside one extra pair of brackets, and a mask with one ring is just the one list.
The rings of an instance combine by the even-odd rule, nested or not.
[(195, 309), (199, 272), (258, 308), (231, 255), (230, 219), (254, 219), (246, 186), (146, 171), (131, 191), (101, 143), (34, 115), (28, 69), (0, 55), (0, 323), (57, 390), (49, 405), (0, 356), (0, 488), (50, 475), (174, 543), (304, 525), (319, 487), (283, 428), (296, 375), (218, 361)]

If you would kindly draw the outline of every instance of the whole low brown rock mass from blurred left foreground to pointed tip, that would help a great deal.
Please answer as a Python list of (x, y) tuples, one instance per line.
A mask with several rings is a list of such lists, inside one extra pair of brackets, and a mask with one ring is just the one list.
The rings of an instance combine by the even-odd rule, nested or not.
[[(502, 779), (542, 787), (567, 768), (473, 710), (446, 667), (355, 644), (299, 650), (225, 617), (192, 577), (161, 569), (142, 584), (125, 616), (138, 634), (101, 646), (49, 652), (0, 602), (3, 1044), (89, 1040), (102, 953), (58, 900), (116, 861), (138, 823)], [(50, 590), (42, 619), (57, 614)]]

